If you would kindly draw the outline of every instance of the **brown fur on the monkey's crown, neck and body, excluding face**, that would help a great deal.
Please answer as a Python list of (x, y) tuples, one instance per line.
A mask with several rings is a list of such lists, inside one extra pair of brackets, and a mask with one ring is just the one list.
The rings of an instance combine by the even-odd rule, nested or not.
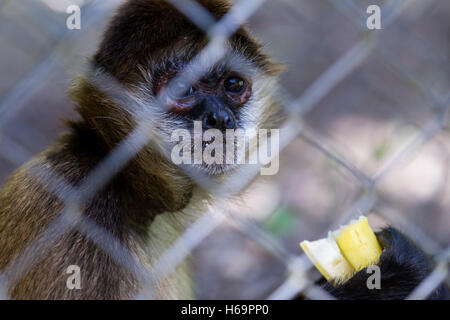
[[(217, 18), (230, 6), (227, 1), (200, 2)], [(132, 88), (145, 81), (139, 70), (153, 66), (185, 37), (192, 43), (192, 54), (206, 43), (204, 33), (166, 2), (131, 0), (118, 10), (92, 65)], [(245, 28), (233, 35), (231, 45), (268, 75), (278, 70)], [(50, 188), (45, 181), (52, 178), (45, 172), (79, 186), (134, 127), (130, 115), (86, 78), (72, 89), (72, 97), (82, 120), (70, 122), (68, 133), (12, 175), (0, 193), (0, 271), (15, 299), (119, 299), (131, 298), (140, 289), (128, 270), (76, 229), (55, 242), (36, 241), (64, 208), (52, 190), (65, 187)], [(41, 176), (31, 175), (30, 168)], [(176, 166), (147, 147), (83, 203), (82, 212), (137, 252), (138, 246), (152, 241), (148, 229), (154, 219), (185, 208), (194, 187)], [(30, 244), (43, 253), (25, 274), (15, 275), (15, 259)], [(65, 270), (72, 264), (82, 270), (81, 290), (66, 288)]]

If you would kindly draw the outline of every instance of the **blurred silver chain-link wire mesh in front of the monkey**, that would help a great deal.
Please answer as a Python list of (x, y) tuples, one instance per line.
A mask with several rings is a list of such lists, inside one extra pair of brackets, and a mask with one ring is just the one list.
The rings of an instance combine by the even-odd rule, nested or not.
[[(90, 4), (90, 6), (93, 6), (97, 10), (92, 11), (93, 14), (90, 15), (91, 20), (89, 20), (89, 23), (101, 19), (116, 5), (114, 3), (113, 5), (96, 7), (100, 2), (94, 1)], [(180, 12), (184, 13), (199, 28), (203, 29), (209, 36), (208, 45), (191, 61), (189, 72), (186, 71), (177, 77), (193, 82), (205, 70), (226, 55), (228, 50), (226, 46), (227, 39), (261, 8), (264, 0), (238, 1), (233, 5), (228, 14), (219, 21), (216, 21), (207, 10), (194, 0), (170, 0), (169, 2)], [(391, 65), (387, 58), (389, 53), (379, 45), (380, 35), (378, 33), (367, 33), (364, 27), (360, 25), (360, 19), (355, 18), (354, 13), (358, 10), (353, 1), (330, 0), (329, 2), (341, 13), (345, 14), (349, 20), (352, 20), (352, 23), (358, 26), (361, 31), (361, 37), (345, 54), (312, 82), (300, 96), (281, 101), (289, 117), (281, 127), (283, 141), (280, 146), (280, 151), (292, 141), (301, 137), (314, 149), (335, 163), (336, 166), (350, 173), (362, 188), (363, 194), (333, 225), (337, 226), (350, 221), (361, 213), (367, 214), (372, 210), (376, 210), (380, 216), (386, 218), (394, 226), (402, 227), (402, 230), (405, 230), (411, 239), (415, 239), (416, 244), (426, 253), (436, 257), (436, 268), (408, 297), (408, 299), (425, 299), (437, 286), (448, 281), (449, 259), (448, 254), (445, 256), (445, 252), (448, 251), (443, 250), (436, 244), (419, 226), (412, 224), (407, 218), (403, 218), (397, 214), (395, 204), (391, 204), (384, 199), (377, 187), (380, 181), (402, 167), (406, 160), (411, 159), (413, 154), (420, 152), (447, 125), (450, 92), (447, 96), (439, 97), (425, 83), (416, 81), (407, 70)], [(302, 6), (301, 2), (297, 3), (285, 0), (283, 3), (295, 8)], [(414, 0), (398, 0), (392, 1), (386, 7), (382, 8), (383, 17), (385, 17), (383, 20), (383, 28), (394, 24), (406, 8), (416, 4), (417, 1)], [(68, 41), (68, 36), (64, 34), (55, 40), (53, 49), (51, 49), (47, 58), (33, 67), (32, 71), (27, 73), (0, 101), (0, 132), (11, 117), (23, 106), (26, 97), (39, 90), (39, 85), (42, 85), (45, 77), (55, 66), (70, 63), (70, 59), (61, 54), (61, 51), (63, 51), (62, 47)], [(419, 133), (411, 141), (406, 143), (403, 148), (394, 154), (375, 175), (365, 173), (356, 164), (346, 158), (345, 155), (337, 151), (332, 144), (325, 141), (313, 128), (305, 126), (303, 121), (304, 116), (319, 105), (347, 77), (357, 72), (358, 68), (371, 55), (378, 56), (381, 63), (389, 65), (389, 69), (393, 69), (403, 81), (411, 84), (411, 87), (418, 88), (427, 97), (430, 104), (437, 108), (434, 117), (420, 129)], [(88, 74), (89, 72), (87, 71)], [(90, 74), (90, 76), (95, 82), (96, 76), (98, 75)], [(122, 87), (111, 76), (101, 76), (101, 81), (96, 82), (96, 84), (113, 101), (119, 104), (123, 104), (125, 101), (129, 107), (135, 106), (136, 108), (142, 107), (142, 104), (145, 103), (139, 100), (139, 98), (136, 98), (128, 89)], [(102, 83), (106, 83), (106, 85), (102, 86)], [(279, 89), (284, 90), (283, 88)], [(159, 101), (159, 103), (163, 105), (162, 101)], [(104, 230), (95, 222), (84, 217), (80, 210), (82, 204), (86, 203), (98, 190), (105, 186), (144, 146), (151, 143), (153, 137), (149, 135), (149, 132), (151, 132), (149, 129), (153, 126), (154, 124), (149, 120), (137, 122), (134, 130), (77, 187), (73, 187), (61, 177), (55, 176), (52, 172), (44, 173), (43, 170), (45, 168), (39, 165), (39, 161), (32, 161), (27, 164), (27, 173), (37, 179), (42, 186), (45, 186), (49, 192), (58, 198), (58, 201), (62, 204), (62, 210), (46, 230), (40, 233), (21, 252), (19, 257), (12, 261), (3, 273), (0, 274), (1, 299), (8, 298), (8, 286), (20, 280), (26, 271), (42, 258), (45, 251), (51, 248), (63, 234), (70, 230), (77, 230), (94, 241), (99, 248), (108, 253), (118, 264), (126, 268), (138, 279), (141, 284), (141, 290), (135, 298), (153, 298), (154, 292), (152, 289), (155, 283), (170, 275), (225, 220), (232, 222), (235, 228), (255, 240), (264, 250), (270, 252), (285, 264), (288, 270), (288, 276), (269, 295), (269, 299), (290, 299), (296, 297), (298, 294), (302, 294), (309, 299), (333, 299), (323, 289), (315, 285), (316, 279), (311, 278), (310, 275), (312, 265), (305, 255), (292, 255), (278, 239), (272, 237), (254, 221), (243, 218), (228, 208), (227, 199), (244, 190), (258, 174), (261, 166), (255, 166), (251, 169), (247, 167), (245, 170), (238, 171), (220, 185), (210, 181), (207, 176), (199, 175), (186, 168), (181, 168), (200, 186), (210, 190), (218, 198), (218, 201), (216, 205), (208, 208), (207, 212), (201, 215), (151, 267), (139, 261), (135, 255), (122, 246), (120, 241), (115, 239), (107, 230)], [(14, 162), (20, 162), (20, 160), (15, 159), (23, 159), (30, 156), (26, 148), (17, 145), (14, 141), (9, 141), (6, 136), (3, 143), (9, 146), (9, 149), (5, 149), (7, 151), (5, 156)]]

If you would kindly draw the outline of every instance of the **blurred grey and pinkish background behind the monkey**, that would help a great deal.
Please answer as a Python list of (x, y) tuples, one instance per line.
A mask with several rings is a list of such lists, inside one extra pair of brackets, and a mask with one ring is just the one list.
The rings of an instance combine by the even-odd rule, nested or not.
[[(0, 184), (77, 117), (66, 89), (120, 3), (0, 1)], [(71, 4), (82, 8), (81, 30), (66, 28)], [(381, 30), (366, 28), (370, 4), (383, 8)], [(450, 1), (266, 1), (249, 25), (286, 64), (287, 96), (307, 103), (325, 89), (279, 174), (236, 203), (242, 223), (293, 255), (358, 212), (375, 229), (394, 224), (448, 248)], [(282, 259), (243, 230), (226, 221), (194, 250), (197, 297), (265, 298), (285, 281)]]

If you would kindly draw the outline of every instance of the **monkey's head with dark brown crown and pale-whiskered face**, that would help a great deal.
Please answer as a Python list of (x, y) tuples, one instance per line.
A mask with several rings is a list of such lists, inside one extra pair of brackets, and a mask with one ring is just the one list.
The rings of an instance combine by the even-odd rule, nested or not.
[[(216, 21), (231, 7), (222, 0), (198, 2)], [(280, 116), (272, 95), (281, 68), (246, 27), (223, 43), (223, 51), (209, 40), (205, 31), (166, 1), (126, 2), (94, 56), (92, 77), (83, 81), (84, 94), (76, 95), (81, 100), (78, 110), (111, 147), (146, 120), (152, 148), (157, 146), (166, 157), (182, 145), (181, 153), (189, 152), (192, 165), (204, 173), (228, 171), (235, 165), (225, 163), (226, 145), (240, 146), (238, 139), (226, 139), (227, 130), (271, 128)], [(108, 84), (111, 81), (115, 84)], [(222, 133), (223, 140), (214, 137), (195, 144), (194, 129), (200, 124), (203, 132)], [(192, 139), (174, 140), (174, 131), (180, 129)], [(221, 163), (203, 159), (194, 164), (197, 149), (213, 149), (215, 156), (219, 146)]]

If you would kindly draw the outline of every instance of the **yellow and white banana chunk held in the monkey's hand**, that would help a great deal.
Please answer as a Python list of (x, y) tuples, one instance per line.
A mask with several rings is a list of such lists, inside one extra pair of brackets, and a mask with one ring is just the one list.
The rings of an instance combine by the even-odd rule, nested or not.
[(300, 247), (327, 281), (337, 283), (343, 283), (355, 272), (376, 264), (382, 252), (364, 216), (330, 231), (327, 238), (302, 241)]

